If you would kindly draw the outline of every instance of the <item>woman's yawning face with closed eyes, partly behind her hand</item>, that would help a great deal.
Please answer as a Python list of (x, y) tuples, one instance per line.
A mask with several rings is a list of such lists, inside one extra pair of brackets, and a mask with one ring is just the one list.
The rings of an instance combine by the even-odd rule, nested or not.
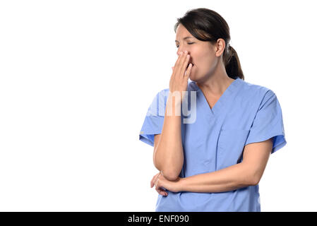
[[(220, 40), (221, 39), (218, 41)], [(196, 37), (193, 37), (184, 25), (179, 24), (177, 28), (175, 44), (177, 46), (178, 55), (187, 50), (191, 56), (189, 59), (189, 62), (193, 64), (191, 74), (189, 76), (191, 81), (200, 82), (207, 80), (208, 76), (213, 74), (217, 64), (221, 61), (220, 56), (223, 52), (223, 48), (219, 49), (219, 44), (213, 45), (210, 42), (203, 42), (196, 39)], [(220, 43), (220, 45), (221, 44), (225, 44), (225, 41)]]

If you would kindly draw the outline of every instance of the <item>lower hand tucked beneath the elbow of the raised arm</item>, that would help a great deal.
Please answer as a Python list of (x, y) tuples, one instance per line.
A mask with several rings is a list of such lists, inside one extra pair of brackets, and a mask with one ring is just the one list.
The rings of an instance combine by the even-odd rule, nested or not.
[(169, 191), (173, 192), (179, 192), (179, 182), (181, 177), (177, 178), (175, 181), (171, 182), (168, 179), (166, 179), (161, 172), (155, 174), (155, 176), (152, 178), (151, 181), (151, 188), (155, 186), (155, 190), (158, 194), (161, 194), (162, 196), (167, 196), (167, 191), (164, 189), (167, 189)]

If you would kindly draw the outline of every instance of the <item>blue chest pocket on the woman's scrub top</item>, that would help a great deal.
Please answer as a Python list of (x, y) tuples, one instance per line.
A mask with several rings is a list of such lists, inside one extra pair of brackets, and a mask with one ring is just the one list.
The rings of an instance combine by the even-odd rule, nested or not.
[(217, 170), (241, 162), (250, 130), (221, 129), (217, 145)]

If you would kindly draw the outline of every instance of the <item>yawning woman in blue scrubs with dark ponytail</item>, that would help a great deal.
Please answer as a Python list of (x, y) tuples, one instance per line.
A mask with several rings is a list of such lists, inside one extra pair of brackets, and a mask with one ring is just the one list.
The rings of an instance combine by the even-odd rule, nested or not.
[[(179, 58), (169, 89), (157, 93), (139, 137), (154, 147), (160, 171), (150, 183), (156, 211), (261, 211), (258, 183), (270, 154), (286, 145), (280, 103), (244, 81), (218, 13), (187, 11), (174, 30)], [(184, 103), (195, 110), (191, 123), (176, 113)]]

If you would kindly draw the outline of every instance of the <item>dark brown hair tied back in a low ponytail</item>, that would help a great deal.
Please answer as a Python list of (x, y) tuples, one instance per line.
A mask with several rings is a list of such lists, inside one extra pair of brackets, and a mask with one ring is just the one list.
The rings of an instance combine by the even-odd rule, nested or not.
[(215, 44), (219, 38), (225, 40), (225, 50), (222, 53), (222, 60), (225, 64), (227, 75), (230, 78), (241, 78), (244, 80), (239, 57), (233, 47), (229, 45), (230, 32), (229, 26), (219, 13), (209, 8), (195, 8), (186, 11), (185, 16), (177, 18), (174, 25), (176, 33), (179, 24), (184, 27), (198, 40)]

